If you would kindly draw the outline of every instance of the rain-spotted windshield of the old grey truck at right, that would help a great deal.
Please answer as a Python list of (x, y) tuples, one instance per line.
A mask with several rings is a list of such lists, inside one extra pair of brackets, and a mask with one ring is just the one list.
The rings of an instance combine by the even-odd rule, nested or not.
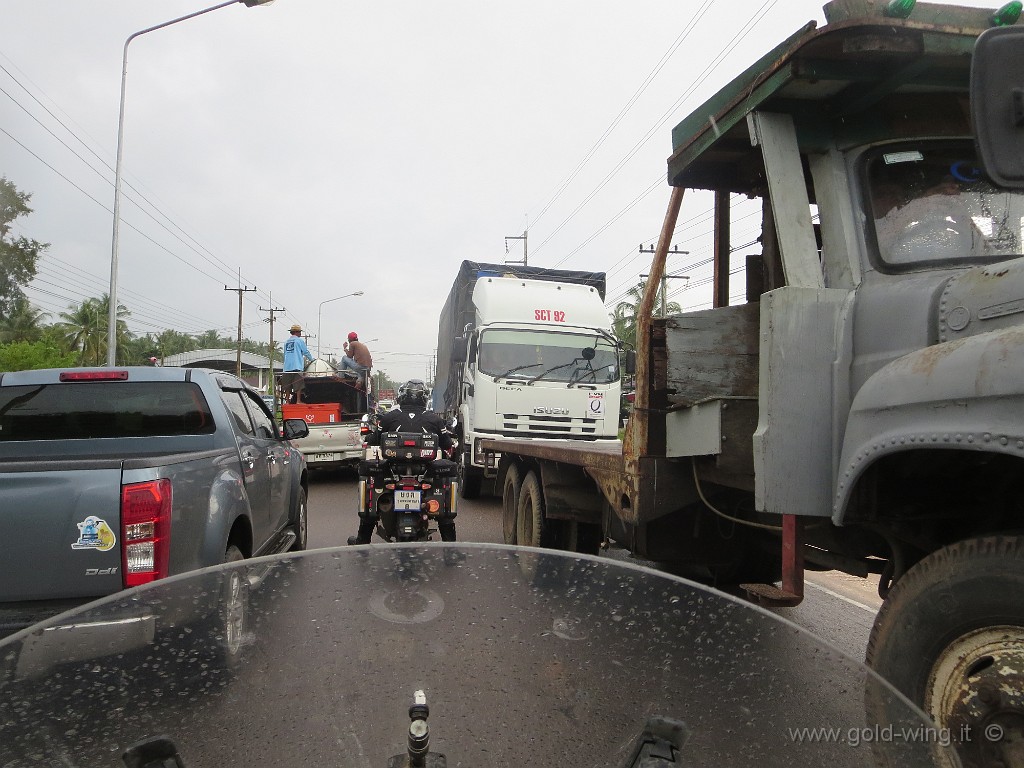
[(887, 146), (867, 161), (883, 264), (971, 264), (1021, 254), (1024, 194), (985, 178), (970, 142)]

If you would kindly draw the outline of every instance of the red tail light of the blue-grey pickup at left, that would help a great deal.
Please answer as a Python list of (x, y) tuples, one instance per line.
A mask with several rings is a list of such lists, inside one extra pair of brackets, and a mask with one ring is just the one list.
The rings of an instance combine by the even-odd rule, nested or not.
[(121, 558), (125, 587), (168, 574), (171, 481), (133, 482), (121, 488)]

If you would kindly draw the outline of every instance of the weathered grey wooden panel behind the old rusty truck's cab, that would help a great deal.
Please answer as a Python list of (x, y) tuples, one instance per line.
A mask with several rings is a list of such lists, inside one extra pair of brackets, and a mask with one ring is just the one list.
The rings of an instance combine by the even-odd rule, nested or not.
[(669, 401), (758, 394), (758, 304), (676, 314), (666, 325)]

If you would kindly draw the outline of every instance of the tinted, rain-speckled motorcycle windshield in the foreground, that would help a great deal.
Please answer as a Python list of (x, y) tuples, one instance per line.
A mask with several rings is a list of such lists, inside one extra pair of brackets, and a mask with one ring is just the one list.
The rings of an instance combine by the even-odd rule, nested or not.
[(638, 765), (652, 716), (685, 724), (684, 765), (955, 764), (924, 715), (793, 624), (646, 568), (514, 547), (206, 569), (8, 638), (0, 675), (0, 766), (123, 765), (164, 735), (187, 766), (384, 768), (407, 753), (417, 690), (453, 766)]

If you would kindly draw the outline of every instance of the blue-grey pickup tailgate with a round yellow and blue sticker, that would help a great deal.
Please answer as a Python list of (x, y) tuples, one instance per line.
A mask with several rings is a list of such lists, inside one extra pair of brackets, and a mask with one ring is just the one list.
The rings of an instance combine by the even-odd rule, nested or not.
[(120, 461), (0, 465), (0, 602), (123, 589)]

